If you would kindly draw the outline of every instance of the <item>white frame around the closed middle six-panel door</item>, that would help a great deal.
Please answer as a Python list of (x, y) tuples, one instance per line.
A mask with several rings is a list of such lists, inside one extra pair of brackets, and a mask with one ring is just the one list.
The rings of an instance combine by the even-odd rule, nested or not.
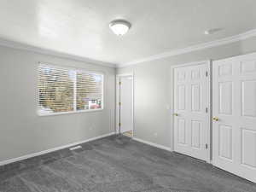
[(184, 64), (177, 64), (177, 65), (172, 65), (171, 66), (171, 141), (172, 141), (172, 151), (175, 151), (174, 148), (174, 69), (179, 68), (179, 67), (189, 67), (189, 66), (197, 66), (203, 63), (207, 63), (207, 71), (208, 71), (208, 76), (209, 76), (209, 82), (208, 82), (208, 136), (207, 136), (207, 141), (208, 141), (208, 148), (209, 152), (207, 153), (207, 163), (212, 164), (212, 60), (205, 60), (205, 61), (195, 61), (195, 62), (189, 62), (189, 63), (184, 63)]

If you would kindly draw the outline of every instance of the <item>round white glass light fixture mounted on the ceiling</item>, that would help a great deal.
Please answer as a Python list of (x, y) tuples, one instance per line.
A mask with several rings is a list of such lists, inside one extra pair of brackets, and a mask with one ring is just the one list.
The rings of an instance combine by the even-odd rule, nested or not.
[(113, 20), (109, 23), (109, 28), (117, 36), (123, 36), (131, 28), (131, 23), (126, 20)]

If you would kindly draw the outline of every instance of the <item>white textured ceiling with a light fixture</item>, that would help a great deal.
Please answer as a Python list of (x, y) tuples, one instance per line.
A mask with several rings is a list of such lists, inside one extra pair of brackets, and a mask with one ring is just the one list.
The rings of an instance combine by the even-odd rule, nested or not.
[[(126, 63), (256, 28), (255, 0), (0, 0), (0, 38)], [(117, 37), (108, 28), (129, 20)], [(223, 31), (206, 36), (211, 28)]]

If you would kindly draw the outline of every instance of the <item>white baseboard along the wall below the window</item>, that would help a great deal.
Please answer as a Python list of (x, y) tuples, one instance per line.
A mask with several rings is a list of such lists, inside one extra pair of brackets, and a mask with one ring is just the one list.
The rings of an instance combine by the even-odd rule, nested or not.
[(102, 136), (92, 137), (92, 138), (86, 139), (84, 141), (80, 141), (80, 142), (76, 142), (76, 143), (69, 143), (67, 145), (63, 145), (63, 146), (60, 146), (60, 147), (57, 147), (57, 148), (49, 148), (49, 149), (44, 150), (44, 151), (40, 151), (40, 152), (33, 153), (33, 154), (26, 154), (24, 156), (20, 156), (20, 157), (10, 159), (10, 160), (3, 160), (3, 161), (0, 161), (0, 166), (8, 165), (10, 163), (14, 163), (14, 162), (17, 162), (17, 161), (20, 161), (20, 160), (26, 160), (26, 159), (36, 157), (36, 156), (39, 156), (39, 155), (42, 155), (42, 154), (49, 154), (51, 152), (55, 152), (55, 151), (61, 150), (63, 148), (70, 148), (70, 147), (73, 147), (75, 145), (79, 145), (79, 144), (82, 144), (82, 143), (88, 143), (88, 142), (91, 142), (91, 141), (94, 141), (94, 140), (97, 140), (97, 139), (100, 139), (100, 138), (103, 138), (103, 137), (112, 136), (114, 134), (115, 134), (114, 132), (111, 132), (111, 133), (108, 133), (108, 134), (104, 134)]

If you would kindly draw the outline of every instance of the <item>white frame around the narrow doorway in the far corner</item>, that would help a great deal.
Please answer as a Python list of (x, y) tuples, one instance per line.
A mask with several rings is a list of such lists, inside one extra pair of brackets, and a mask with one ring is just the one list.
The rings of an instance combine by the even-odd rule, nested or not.
[(120, 133), (120, 127), (119, 127), (119, 123), (120, 123), (120, 105), (119, 105), (119, 102), (120, 102), (120, 78), (121, 77), (128, 77), (128, 76), (131, 76), (132, 77), (132, 84), (131, 84), (131, 95), (132, 95), (132, 106), (131, 106), (131, 110), (132, 110), (132, 136), (131, 137), (134, 137), (134, 74), (133, 73), (120, 73), (120, 74), (117, 74), (116, 75), (116, 124), (115, 124), (115, 133), (116, 134), (119, 134)]

